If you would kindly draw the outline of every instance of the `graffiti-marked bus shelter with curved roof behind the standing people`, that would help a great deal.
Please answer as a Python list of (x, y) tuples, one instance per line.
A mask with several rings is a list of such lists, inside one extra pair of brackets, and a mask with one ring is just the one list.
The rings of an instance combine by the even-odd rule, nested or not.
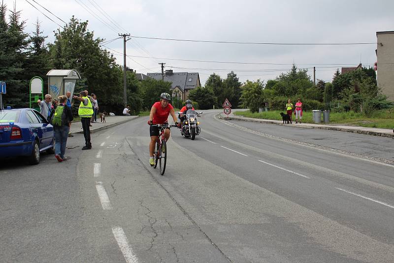
[(48, 76), (48, 94), (52, 98), (66, 95), (67, 91), (74, 94), (75, 83), (81, 75), (75, 69), (51, 69)]

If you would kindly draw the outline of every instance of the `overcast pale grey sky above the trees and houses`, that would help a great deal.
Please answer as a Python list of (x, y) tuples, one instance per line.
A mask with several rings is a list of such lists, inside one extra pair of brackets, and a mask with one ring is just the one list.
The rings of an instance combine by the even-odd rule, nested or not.
[[(27, 0), (3, 1), (8, 9), (16, 3), (16, 10), (22, 11), (22, 19), (27, 20), (26, 32), (34, 30), (33, 23), (38, 17), (44, 34), (49, 36), (48, 41), (54, 40), (53, 31), (59, 26), (34, 9)], [(238, 42), (376, 43), (377, 31), (394, 31), (392, 0), (28, 1), (62, 26), (62, 21), (37, 3), (66, 22), (72, 15), (82, 21), (89, 20), (89, 30), (94, 31), (96, 37), (106, 40), (116, 38), (118, 33), (130, 33), (134, 36)], [(82, 7), (83, 4), (88, 11)], [(122, 39), (106, 46), (123, 53)], [(163, 62), (166, 63), (165, 69), (171, 69), (172, 66), (174, 71), (199, 72), (204, 85), (211, 73), (226, 77), (230, 70), (237, 73), (242, 82), (247, 79), (266, 82), (282, 71), (286, 72), (295, 63), (299, 68), (316, 66), (316, 78), (330, 81), (335, 69), (342, 66), (339, 64), (357, 66), (361, 61), (363, 65), (372, 65), (376, 61), (375, 49), (376, 44), (252, 45), (133, 38), (127, 42), (127, 54), (131, 56), (286, 65), (185, 62), (135, 57), (132, 58), (135, 62), (128, 58), (127, 65), (138, 73), (146, 74), (161, 71), (158, 63)], [(114, 55), (117, 62), (123, 64), (122, 55)], [(278, 71), (272, 71), (275, 69)], [(313, 79), (313, 69), (308, 72)]]

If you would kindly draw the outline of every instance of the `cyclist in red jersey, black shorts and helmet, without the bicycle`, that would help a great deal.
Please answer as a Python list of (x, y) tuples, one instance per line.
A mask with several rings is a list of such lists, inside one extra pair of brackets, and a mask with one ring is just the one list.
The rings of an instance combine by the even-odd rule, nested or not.
[[(174, 108), (171, 104), (169, 104), (169, 100), (171, 96), (168, 93), (162, 93), (160, 95), (160, 101), (155, 102), (151, 108), (151, 112), (149, 114), (148, 124), (168, 124), (168, 115), (171, 114), (172, 119), (175, 122), (175, 125), (178, 125), (178, 119), (175, 115)], [(159, 139), (159, 128), (156, 126), (151, 126), (149, 130), (151, 136), (151, 142), (149, 143), (149, 164), (154, 165), (155, 161), (153, 158), (153, 154), (155, 152), (155, 145), (157, 140)], [(167, 141), (170, 136), (170, 130), (167, 128), (164, 132), (165, 140)]]

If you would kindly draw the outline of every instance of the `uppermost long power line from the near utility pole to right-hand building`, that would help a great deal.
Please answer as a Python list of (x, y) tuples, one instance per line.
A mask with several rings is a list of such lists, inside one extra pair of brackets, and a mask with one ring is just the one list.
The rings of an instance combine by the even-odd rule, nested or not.
[(371, 45), (378, 44), (377, 42), (365, 42), (365, 43), (273, 43), (273, 42), (238, 42), (238, 41), (213, 41), (213, 40), (194, 40), (194, 39), (176, 39), (176, 38), (161, 38), (161, 37), (147, 37), (147, 36), (136, 36), (136, 38), (146, 39), (158, 39), (158, 40), (169, 40), (169, 41), (184, 41), (184, 42), (202, 42), (202, 43), (225, 43), (225, 44), (253, 44), (253, 45)]

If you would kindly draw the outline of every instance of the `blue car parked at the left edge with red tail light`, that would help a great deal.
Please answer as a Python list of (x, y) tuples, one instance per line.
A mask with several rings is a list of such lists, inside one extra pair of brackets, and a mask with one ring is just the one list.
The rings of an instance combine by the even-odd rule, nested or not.
[(0, 111), (0, 159), (26, 156), (30, 164), (38, 164), (41, 152), (55, 153), (54, 145), (53, 126), (38, 111)]

